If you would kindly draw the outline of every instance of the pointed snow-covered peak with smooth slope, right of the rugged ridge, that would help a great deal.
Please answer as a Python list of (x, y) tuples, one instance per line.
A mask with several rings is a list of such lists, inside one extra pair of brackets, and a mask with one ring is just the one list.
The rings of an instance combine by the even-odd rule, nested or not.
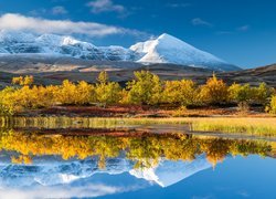
[(142, 63), (174, 63), (220, 71), (238, 70), (238, 67), (166, 33), (155, 40), (139, 42), (130, 49), (141, 54), (138, 62)]

